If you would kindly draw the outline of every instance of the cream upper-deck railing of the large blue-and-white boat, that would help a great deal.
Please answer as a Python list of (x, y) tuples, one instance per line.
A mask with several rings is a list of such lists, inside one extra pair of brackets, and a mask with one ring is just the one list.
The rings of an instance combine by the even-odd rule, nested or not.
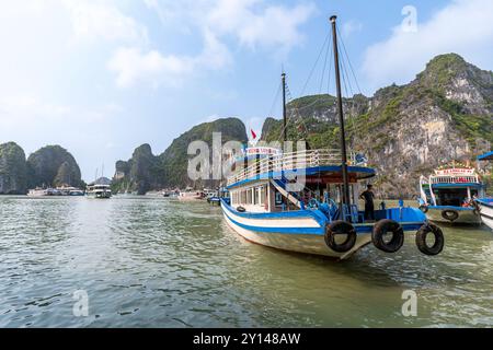
[[(271, 172), (283, 172), (318, 166), (341, 165), (340, 150), (303, 150), (291, 153), (272, 155), (255, 161), (246, 168), (240, 170), (228, 179), (228, 186)], [(349, 164), (356, 163), (356, 154), (349, 152)]]

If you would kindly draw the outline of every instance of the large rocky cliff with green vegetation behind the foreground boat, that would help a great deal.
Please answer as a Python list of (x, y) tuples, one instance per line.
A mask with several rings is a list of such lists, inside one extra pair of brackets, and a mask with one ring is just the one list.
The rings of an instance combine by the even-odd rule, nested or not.
[[(454, 160), (471, 161), (493, 142), (493, 73), (456, 54), (434, 58), (405, 85), (380, 89), (370, 98), (345, 98), (348, 147), (377, 167), (387, 197), (416, 194), (420, 175)], [(335, 98), (305, 96), (288, 105), (289, 140), (339, 148)], [(267, 119), (262, 139), (279, 141), (283, 121)]]

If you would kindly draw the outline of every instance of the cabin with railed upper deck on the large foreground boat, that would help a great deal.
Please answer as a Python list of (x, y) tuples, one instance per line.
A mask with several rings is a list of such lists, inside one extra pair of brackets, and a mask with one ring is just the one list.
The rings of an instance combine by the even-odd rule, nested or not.
[[(264, 150), (263, 150), (264, 151)], [(309, 150), (293, 153), (261, 152), (248, 166), (239, 170), (228, 180), (231, 207), (252, 213), (275, 213), (325, 208), (337, 210), (342, 201), (343, 176), (339, 150)], [(357, 203), (360, 182), (375, 176), (366, 164), (356, 163), (352, 156), (348, 166), (349, 194), (355, 219), (359, 215)], [(356, 220), (353, 220), (355, 222)], [(357, 219), (357, 221), (360, 221)]]

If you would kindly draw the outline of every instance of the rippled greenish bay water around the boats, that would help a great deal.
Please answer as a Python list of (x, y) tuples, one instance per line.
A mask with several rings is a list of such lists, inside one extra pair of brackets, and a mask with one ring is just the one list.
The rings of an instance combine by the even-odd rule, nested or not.
[(437, 258), (410, 235), (334, 262), (246, 243), (207, 203), (1, 197), (0, 327), (493, 326), (493, 233), (445, 233)]

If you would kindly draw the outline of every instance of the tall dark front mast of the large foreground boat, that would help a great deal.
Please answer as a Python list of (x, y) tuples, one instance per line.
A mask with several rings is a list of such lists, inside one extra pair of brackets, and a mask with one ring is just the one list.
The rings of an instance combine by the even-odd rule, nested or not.
[(337, 89), (337, 112), (339, 112), (339, 122), (341, 124), (341, 153), (342, 153), (342, 175), (344, 182), (343, 189), (343, 205), (351, 206), (349, 196), (349, 177), (347, 174), (347, 151), (346, 151), (346, 136), (344, 130), (344, 109), (342, 101), (342, 89), (341, 89), (341, 71), (339, 65), (339, 49), (337, 49), (337, 27), (336, 27), (337, 16), (331, 16), (330, 21), (332, 23), (332, 37), (334, 45), (334, 63), (335, 63), (335, 84)]

